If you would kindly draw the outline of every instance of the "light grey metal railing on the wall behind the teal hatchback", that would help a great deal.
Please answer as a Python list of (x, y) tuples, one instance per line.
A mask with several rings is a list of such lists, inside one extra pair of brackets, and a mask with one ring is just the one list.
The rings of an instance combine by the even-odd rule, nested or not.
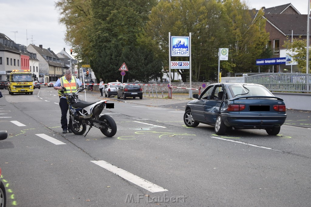
[(245, 83), (257, 83), (270, 91), (311, 92), (311, 74), (265, 73), (245, 77)]

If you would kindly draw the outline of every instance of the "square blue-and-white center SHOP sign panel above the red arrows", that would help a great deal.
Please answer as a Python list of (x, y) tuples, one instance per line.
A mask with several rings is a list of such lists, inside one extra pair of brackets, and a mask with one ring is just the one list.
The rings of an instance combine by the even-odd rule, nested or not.
[(171, 36), (171, 56), (190, 56), (189, 37)]

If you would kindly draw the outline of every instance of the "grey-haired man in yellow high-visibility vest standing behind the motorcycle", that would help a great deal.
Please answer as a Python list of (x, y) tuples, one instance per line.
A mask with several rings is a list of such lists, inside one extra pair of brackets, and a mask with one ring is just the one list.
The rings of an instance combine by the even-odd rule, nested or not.
[[(67, 122), (67, 112), (68, 112), (68, 103), (66, 97), (61, 97), (63, 93), (60, 92), (63, 88), (66, 88), (64, 93), (73, 93), (77, 92), (78, 88), (82, 85), (81, 81), (77, 79), (75, 76), (71, 75), (71, 70), (66, 70), (65, 75), (59, 78), (54, 84), (54, 89), (58, 90), (59, 95), (59, 107), (62, 111), (62, 118), (60, 123), (62, 124), (63, 134), (67, 133), (68, 122)], [(72, 133), (70, 129), (68, 129), (69, 133)]]

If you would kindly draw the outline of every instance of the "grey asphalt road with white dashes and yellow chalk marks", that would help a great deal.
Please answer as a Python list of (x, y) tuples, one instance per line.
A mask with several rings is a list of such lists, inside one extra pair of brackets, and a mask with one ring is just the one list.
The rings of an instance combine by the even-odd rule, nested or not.
[[(211, 126), (183, 124), (187, 99), (109, 98), (115, 107), (103, 114), (116, 121), (117, 134), (92, 128), (84, 137), (61, 133), (53, 88), (2, 93), (7, 206), (311, 204), (310, 112), (288, 110), (293, 115), (278, 136), (265, 130), (217, 136)], [(81, 99), (105, 99), (99, 95), (88, 91)]]

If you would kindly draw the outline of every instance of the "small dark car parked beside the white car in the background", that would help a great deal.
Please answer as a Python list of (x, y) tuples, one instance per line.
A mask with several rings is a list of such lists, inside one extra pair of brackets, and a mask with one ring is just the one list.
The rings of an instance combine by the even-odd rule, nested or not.
[(125, 85), (118, 87), (117, 98), (120, 97), (123, 97), (123, 100), (128, 97), (142, 99), (142, 87), (137, 83), (125, 83)]

